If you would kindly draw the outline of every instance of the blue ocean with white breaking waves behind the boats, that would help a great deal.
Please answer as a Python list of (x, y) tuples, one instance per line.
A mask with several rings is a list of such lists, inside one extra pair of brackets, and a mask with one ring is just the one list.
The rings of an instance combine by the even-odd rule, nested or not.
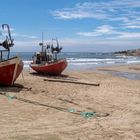
[[(34, 52), (11, 52), (10, 56), (19, 55), (24, 62), (24, 68), (29, 68)], [(66, 58), (68, 70), (94, 70), (97, 67), (140, 63), (140, 57), (122, 56), (113, 53), (93, 52), (62, 52), (58, 58)]]

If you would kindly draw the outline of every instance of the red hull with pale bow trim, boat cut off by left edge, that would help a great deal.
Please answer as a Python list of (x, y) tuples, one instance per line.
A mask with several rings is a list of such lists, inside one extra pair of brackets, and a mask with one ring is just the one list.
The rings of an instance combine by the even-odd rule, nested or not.
[(0, 62), (0, 85), (13, 85), (23, 69), (23, 62), (18, 57)]

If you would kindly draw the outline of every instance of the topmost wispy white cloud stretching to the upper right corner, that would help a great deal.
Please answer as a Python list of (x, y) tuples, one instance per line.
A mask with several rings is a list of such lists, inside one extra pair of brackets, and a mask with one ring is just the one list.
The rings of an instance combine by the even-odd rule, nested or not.
[[(108, 2), (84, 2), (77, 3), (73, 7), (63, 8), (52, 12), (57, 19), (106, 19), (122, 20), (139, 17), (140, 1), (136, 0), (109, 0)], [(114, 16), (115, 15), (115, 16)]]

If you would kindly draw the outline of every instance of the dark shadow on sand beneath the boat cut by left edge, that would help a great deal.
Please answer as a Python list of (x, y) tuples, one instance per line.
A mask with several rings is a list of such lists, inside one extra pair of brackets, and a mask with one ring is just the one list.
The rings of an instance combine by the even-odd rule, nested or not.
[(12, 93), (18, 93), (24, 88), (21, 84), (14, 84), (13, 86), (4, 86), (0, 85), (0, 92), (12, 92)]

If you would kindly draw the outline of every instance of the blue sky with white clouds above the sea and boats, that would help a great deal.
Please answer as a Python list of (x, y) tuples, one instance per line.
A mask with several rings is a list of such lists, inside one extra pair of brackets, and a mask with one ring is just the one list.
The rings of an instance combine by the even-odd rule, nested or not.
[(140, 48), (140, 0), (0, 0), (3, 23), (16, 52), (40, 50), (42, 32), (44, 42), (57, 37), (63, 52)]

